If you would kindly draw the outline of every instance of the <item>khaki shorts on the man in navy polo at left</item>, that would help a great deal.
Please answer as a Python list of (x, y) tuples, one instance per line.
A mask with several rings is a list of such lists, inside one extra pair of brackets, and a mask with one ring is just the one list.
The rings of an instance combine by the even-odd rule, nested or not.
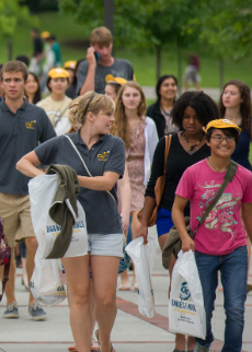
[(0, 192), (0, 216), (3, 220), (3, 232), (11, 248), (15, 246), (15, 240), (21, 242), (26, 237), (35, 237), (28, 196)]

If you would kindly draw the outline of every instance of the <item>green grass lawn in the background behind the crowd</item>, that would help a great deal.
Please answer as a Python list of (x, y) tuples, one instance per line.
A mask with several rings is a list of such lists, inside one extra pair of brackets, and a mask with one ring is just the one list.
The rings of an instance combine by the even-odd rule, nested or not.
[[(73, 22), (69, 15), (59, 14), (57, 12), (45, 12), (37, 15), (39, 19), (39, 30), (49, 31), (55, 34), (61, 45), (62, 61), (70, 59), (78, 60), (85, 57), (84, 44), (84, 25), (79, 25)], [(69, 46), (66, 42), (76, 42), (76, 46)], [(81, 44), (81, 40), (82, 44)], [(0, 62), (7, 61), (7, 44), (1, 40), (0, 46)], [(85, 42), (87, 43), (87, 42)], [(16, 31), (13, 40), (13, 57), (16, 55), (31, 55), (32, 54), (32, 38), (30, 37), (30, 26), (20, 26)], [(210, 52), (199, 55), (201, 58), (201, 75), (202, 86), (218, 87), (219, 86), (219, 66), (218, 60), (210, 57)], [(183, 72), (186, 67), (187, 52), (183, 50)], [(115, 48), (115, 55), (118, 58), (128, 59), (135, 70), (137, 81), (142, 85), (156, 84), (156, 56), (150, 50), (142, 50), (136, 52), (133, 49)], [(225, 81), (239, 78), (247, 84), (252, 86), (252, 75), (248, 74), (251, 70), (251, 59), (243, 59), (234, 62), (229, 59), (225, 61)], [(162, 73), (172, 73), (177, 75), (177, 61), (176, 50), (167, 45), (162, 51)]]

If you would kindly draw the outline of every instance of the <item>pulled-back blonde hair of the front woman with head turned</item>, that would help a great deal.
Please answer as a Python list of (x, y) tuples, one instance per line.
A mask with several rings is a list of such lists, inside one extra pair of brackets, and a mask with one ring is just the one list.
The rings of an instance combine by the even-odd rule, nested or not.
[(84, 95), (80, 96), (80, 99), (78, 101), (75, 115), (76, 122), (84, 125), (88, 113), (94, 115), (100, 112), (103, 112), (103, 114), (114, 114), (114, 110), (115, 103), (110, 96), (96, 94), (95, 92), (87, 92)]

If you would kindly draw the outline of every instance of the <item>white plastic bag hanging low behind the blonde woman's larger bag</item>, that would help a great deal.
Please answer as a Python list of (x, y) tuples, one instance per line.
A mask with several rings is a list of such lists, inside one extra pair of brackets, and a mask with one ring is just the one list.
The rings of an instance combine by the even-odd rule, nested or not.
[(35, 268), (30, 281), (34, 298), (47, 305), (62, 302), (67, 295), (58, 269), (59, 259), (43, 259), (38, 249), (34, 260)]

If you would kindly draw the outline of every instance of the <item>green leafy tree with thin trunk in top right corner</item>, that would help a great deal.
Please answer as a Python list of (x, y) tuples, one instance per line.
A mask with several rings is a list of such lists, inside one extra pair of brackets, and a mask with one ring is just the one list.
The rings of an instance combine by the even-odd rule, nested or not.
[(185, 25), (188, 33), (199, 34), (203, 46), (219, 58), (220, 89), (224, 86), (224, 61), (251, 55), (251, 0), (199, 0), (196, 15)]

